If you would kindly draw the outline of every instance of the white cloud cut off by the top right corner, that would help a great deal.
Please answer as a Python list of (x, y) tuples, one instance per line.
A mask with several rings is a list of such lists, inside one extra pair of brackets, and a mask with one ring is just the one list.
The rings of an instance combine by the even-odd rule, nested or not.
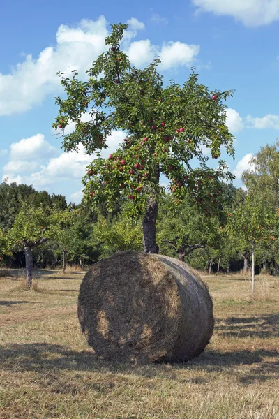
[(229, 15), (248, 27), (279, 20), (278, 0), (192, 0), (197, 11)]

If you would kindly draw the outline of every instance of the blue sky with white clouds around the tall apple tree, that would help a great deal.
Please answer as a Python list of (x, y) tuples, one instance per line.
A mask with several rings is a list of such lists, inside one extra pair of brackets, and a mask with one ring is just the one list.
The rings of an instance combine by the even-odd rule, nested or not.
[[(119, 22), (130, 24), (123, 48), (133, 65), (142, 68), (156, 55), (166, 83), (183, 84), (195, 66), (209, 89), (235, 90), (226, 103), (235, 159), (222, 158), (241, 186), (252, 155), (278, 138), (279, 0), (2, 0), (0, 182), (80, 202), (93, 156), (82, 147), (63, 152), (52, 129), (55, 96), (63, 96), (56, 73), (76, 69), (85, 81), (105, 51), (110, 24)], [(112, 132), (104, 156), (124, 137)]]

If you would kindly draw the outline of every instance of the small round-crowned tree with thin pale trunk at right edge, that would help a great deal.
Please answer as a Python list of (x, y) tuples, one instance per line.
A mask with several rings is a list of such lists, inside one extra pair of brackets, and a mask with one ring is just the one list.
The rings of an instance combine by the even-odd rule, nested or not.
[[(248, 186), (248, 185), (247, 185)], [(250, 247), (252, 253), (252, 297), (255, 289), (255, 244), (276, 240), (278, 211), (265, 195), (248, 189), (246, 198), (228, 214), (227, 230), (236, 237), (243, 249)]]

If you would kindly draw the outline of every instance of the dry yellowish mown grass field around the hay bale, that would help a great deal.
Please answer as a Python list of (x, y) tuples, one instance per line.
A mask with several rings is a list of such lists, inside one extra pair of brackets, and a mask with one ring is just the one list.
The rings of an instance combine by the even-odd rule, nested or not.
[(114, 365), (80, 331), (84, 272), (0, 276), (1, 419), (278, 419), (279, 278), (208, 277), (216, 328), (182, 364)]

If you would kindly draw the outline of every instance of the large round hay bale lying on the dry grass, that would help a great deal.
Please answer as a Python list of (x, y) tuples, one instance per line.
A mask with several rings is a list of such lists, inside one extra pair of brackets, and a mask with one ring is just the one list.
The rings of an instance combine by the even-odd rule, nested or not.
[(186, 263), (125, 251), (100, 260), (80, 285), (78, 318), (96, 355), (179, 362), (202, 351), (213, 333), (207, 286)]

